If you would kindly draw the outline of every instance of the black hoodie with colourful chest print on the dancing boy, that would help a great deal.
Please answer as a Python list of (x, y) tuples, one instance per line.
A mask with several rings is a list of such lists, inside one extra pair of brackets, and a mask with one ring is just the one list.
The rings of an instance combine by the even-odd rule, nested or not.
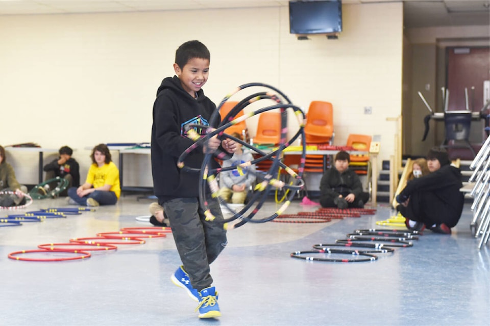
[[(177, 76), (163, 79), (157, 91), (153, 104), (151, 160), (154, 193), (163, 201), (199, 196), (199, 173), (184, 172), (177, 167), (179, 156), (194, 143), (186, 137), (185, 126), (202, 124), (216, 127), (219, 121), (209, 121), (216, 105), (202, 89), (197, 95), (197, 98), (191, 97)], [(206, 130), (196, 131), (204, 134)], [(187, 156), (184, 165), (200, 168), (203, 159), (203, 149), (199, 147)], [(215, 168), (219, 167), (214, 159), (211, 161)]]

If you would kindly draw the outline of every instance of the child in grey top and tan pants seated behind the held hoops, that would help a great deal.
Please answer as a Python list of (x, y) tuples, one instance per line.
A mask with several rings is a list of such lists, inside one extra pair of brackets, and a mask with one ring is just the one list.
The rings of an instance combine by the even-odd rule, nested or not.
[[(233, 137), (242, 139), (242, 136), (234, 132)], [(223, 168), (237, 166), (244, 162), (254, 159), (252, 153), (247, 148), (236, 143), (236, 151), (230, 159), (223, 161)], [(237, 167), (235, 170), (224, 171), (219, 174), (219, 196), (228, 203), (243, 204), (247, 198), (250, 186), (255, 182), (255, 166)]]

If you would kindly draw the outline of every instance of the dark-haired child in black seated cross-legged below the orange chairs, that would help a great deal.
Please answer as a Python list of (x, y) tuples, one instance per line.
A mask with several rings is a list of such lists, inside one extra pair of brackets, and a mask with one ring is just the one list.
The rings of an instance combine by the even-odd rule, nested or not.
[(351, 156), (346, 151), (335, 155), (334, 166), (325, 171), (320, 181), (322, 207), (363, 208), (369, 194), (362, 192), (359, 176), (349, 169)]

